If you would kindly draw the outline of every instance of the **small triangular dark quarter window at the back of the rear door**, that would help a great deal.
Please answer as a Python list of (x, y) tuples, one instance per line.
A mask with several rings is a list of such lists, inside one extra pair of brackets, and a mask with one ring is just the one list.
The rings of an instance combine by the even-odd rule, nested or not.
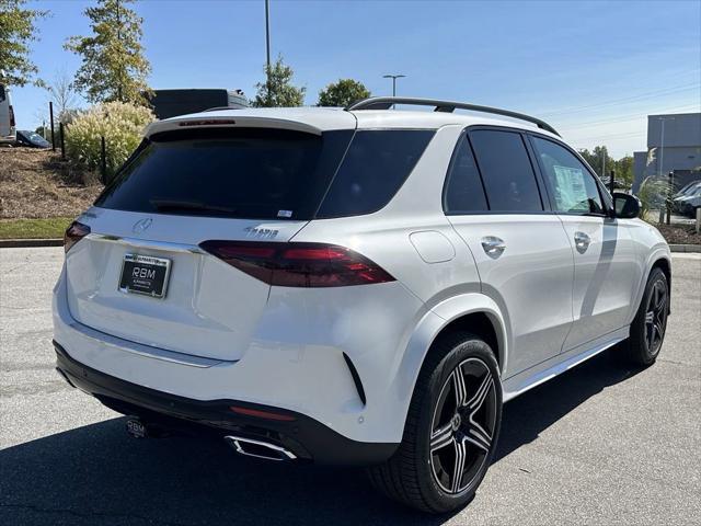
[(469, 214), (489, 209), (472, 148), (464, 135), (460, 137), (448, 168), (443, 207), (446, 214)]

